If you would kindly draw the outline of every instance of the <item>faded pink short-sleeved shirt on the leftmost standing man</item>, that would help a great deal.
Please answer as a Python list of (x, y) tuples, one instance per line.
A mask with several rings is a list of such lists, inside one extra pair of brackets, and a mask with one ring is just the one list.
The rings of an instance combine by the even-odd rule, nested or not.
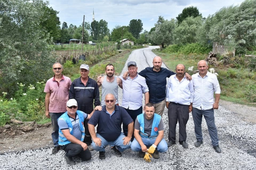
[(60, 82), (55, 80), (55, 76), (47, 80), (44, 92), (51, 94), (49, 112), (61, 113), (67, 111), (66, 104), (71, 83), (70, 78), (64, 75), (62, 75)]

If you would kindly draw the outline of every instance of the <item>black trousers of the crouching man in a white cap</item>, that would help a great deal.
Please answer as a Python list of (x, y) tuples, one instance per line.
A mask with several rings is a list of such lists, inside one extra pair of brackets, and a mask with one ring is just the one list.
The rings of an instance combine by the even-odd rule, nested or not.
[(91, 152), (87, 148), (85, 151), (83, 147), (79, 144), (69, 143), (67, 145), (60, 146), (61, 149), (66, 153), (67, 157), (74, 157), (78, 156), (82, 160), (90, 160), (92, 158)]

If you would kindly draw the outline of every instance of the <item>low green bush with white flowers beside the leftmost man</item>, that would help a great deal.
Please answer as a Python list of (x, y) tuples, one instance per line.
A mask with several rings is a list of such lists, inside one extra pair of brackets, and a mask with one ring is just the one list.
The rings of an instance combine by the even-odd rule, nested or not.
[[(44, 80), (45, 81), (45, 80)], [(2, 92), (0, 97), (0, 126), (9, 123), (14, 118), (20, 121), (40, 121), (44, 116), (45, 82), (37, 82), (36, 85), (26, 86), (17, 83), (18, 90), (10, 99), (7, 92)]]

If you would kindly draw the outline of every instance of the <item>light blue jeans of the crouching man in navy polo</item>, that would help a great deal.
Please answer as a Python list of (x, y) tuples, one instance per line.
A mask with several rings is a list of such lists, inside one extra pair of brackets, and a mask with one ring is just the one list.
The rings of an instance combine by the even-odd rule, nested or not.
[(101, 146), (96, 146), (95, 143), (92, 141), (92, 147), (95, 151), (105, 151), (105, 147), (107, 145), (117, 146), (117, 149), (120, 152), (123, 152), (124, 150), (129, 149), (131, 147), (131, 142), (129, 142), (128, 145), (123, 145), (123, 138), (125, 137), (123, 132), (121, 132), (121, 134), (115, 141), (107, 141), (98, 133), (96, 134), (96, 136), (97, 138), (101, 139)]

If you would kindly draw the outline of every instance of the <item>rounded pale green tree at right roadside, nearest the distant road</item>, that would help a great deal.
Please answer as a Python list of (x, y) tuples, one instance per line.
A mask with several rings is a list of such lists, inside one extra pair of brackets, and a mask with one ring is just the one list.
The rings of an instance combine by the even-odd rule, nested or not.
[(155, 31), (150, 34), (150, 39), (156, 43), (161, 44), (164, 48), (164, 44), (173, 43), (173, 32), (175, 28), (175, 20), (165, 20), (163, 23), (156, 26)]

